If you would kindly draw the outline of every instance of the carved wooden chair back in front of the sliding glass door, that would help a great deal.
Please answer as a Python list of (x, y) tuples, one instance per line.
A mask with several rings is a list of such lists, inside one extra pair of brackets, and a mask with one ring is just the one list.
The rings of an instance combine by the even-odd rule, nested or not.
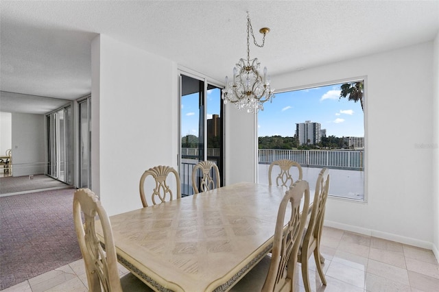
[[(200, 173), (199, 176), (198, 173)], [(192, 169), (192, 188), (195, 194), (200, 193), (200, 191), (198, 191), (198, 178), (200, 178), (200, 191), (202, 192), (219, 188), (219, 169), (217, 165), (211, 161), (198, 162)]]

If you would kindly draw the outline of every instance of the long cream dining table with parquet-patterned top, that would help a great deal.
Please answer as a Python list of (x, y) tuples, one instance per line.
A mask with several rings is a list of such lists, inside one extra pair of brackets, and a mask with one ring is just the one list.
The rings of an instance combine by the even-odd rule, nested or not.
[(156, 291), (227, 291), (272, 249), (285, 191), (241, 182), (111, 216), (119, 263)]

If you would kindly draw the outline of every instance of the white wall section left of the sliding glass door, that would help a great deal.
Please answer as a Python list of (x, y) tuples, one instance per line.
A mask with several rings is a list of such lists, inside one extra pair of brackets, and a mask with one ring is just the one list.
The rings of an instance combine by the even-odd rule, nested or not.
[(177, 168), (177, 65), (98, 36), (91, 99), (93, 191), (109, 215), (140, 208), (143, 172), (156, 165)]

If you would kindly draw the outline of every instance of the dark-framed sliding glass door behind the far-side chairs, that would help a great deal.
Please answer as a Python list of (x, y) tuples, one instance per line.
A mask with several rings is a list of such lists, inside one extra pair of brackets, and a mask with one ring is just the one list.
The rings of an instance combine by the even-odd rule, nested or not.
[(187, 75), (180, 81), (180, 180), (182, 195), (192, 195), (192, 169), (198, 162), (215, 162), (224, 177), (223, 106), (219, 87)]

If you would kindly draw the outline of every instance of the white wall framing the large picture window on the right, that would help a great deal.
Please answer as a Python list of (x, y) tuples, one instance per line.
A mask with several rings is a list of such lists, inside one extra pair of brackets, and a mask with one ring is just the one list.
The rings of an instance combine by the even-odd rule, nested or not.
[[(325, 223), (431, 248), (433, 43), (273, 76), (292, 88), (366, 76), (367, 204), (329, 199)], [(275, 102), (275, 101), (274, 101)]]

